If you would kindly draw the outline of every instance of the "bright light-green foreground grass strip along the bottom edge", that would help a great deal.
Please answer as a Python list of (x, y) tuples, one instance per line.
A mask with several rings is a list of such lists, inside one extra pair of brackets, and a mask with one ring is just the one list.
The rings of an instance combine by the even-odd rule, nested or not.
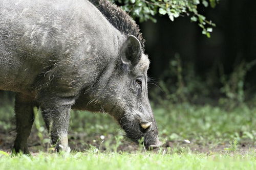
[(1, 169), (255, 169), (256, 155), (151, 153), (40, 153), (34, 157), (2, 156)]

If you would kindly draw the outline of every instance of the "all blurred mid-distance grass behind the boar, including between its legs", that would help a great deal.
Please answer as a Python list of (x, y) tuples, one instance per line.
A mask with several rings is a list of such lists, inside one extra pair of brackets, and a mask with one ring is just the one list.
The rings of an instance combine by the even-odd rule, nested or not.
[[(240, 106), (233, 110), (220, 107), (194, 106), (188, 104), (165, 104), (153, 106), (158, 123), (160, 140), (172, 142), (176, 147), (191, 147), (200, 144), (208, 148), (229, 145), (237, 140), (242, 143), (256, 144), (256, 107)], [(14, 111), (11, 106), (0, 109), (0, 128), (8, 132), (14, 129), (11, 119)], [(40, 114), (37, 114), (33, 134), (40, 144), (49, 142), (47, 130)], [(100, 113), (74, 112), (71, 113), (69, 138), (77, 150), (88, 149), (90, 145), (115, 151), (119, 145), (126, 144), (124, 134), (115, 120)], [(34, 135), (34, 136), (35, 136)], [(104, 136), (103, 139), (100, 136)], [(184, 144), (184, 140), (190, 144)], [(76, 145), (79, 143), (79, 145)], [(1, 149), (1, 145), (0, 145)], [(40, 148), (37, 148), (40, 150)]]

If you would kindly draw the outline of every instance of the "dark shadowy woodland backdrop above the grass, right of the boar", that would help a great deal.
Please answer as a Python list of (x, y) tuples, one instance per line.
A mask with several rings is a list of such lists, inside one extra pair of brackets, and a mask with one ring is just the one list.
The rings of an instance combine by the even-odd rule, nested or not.
[(186, 16), (173, 22), (162, 16), (157, 23), (139, 23), (151, 60), (148, 75), (154, 83), (160, 82), (160, 88), (163, 81), (168, 87), (162, 89), (165, 95), (176, 93), (178, 102), (252, 100), (256, 92), (255, 7), (255, 1), (220, 1), (213, 9), (199, 5), (199, 13), (216, 23), (211, 38)]

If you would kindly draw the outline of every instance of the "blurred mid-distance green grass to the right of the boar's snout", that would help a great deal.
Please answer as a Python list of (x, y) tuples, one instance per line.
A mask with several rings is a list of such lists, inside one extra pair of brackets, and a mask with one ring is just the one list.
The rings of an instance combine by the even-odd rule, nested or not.
[(256, 108), (246, 105), (229, 111), (209, 105), (169, 105), (156, 108), (155, 115), (160, 136), (167, 140), (202, 144), (256, 140)]

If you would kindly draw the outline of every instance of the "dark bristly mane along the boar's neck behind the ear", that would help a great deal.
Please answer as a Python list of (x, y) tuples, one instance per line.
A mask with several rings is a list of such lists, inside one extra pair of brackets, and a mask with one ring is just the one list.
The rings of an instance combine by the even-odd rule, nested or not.
[(89, 0), (109, 20), (109, 22), (124, 35), (134, 35), (144, 49), (144, 40), (135, 21), (120, 7), (109, 0)]

